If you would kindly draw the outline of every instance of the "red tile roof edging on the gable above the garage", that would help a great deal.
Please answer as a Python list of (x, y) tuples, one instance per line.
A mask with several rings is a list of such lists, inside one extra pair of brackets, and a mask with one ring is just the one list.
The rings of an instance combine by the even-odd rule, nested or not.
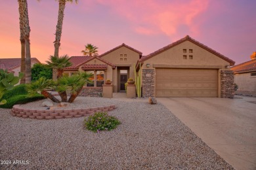
[(234, 65), (235, 61), (233, 61), (232, 59), (229, 59), (225, 56), (223, 56), (222, 54), (220, 54), (219, 52), (216, 52), (215, 50), (209, 48), (208, 46), (205, 46), (204, 44), (196, 41), (195, 39), (192, 39), (191, 37), (189, 37), (188, 35), (186, 35), (186, 37), (180, 39), (179, 41), (176, 41), (176, 42), (173, 42), (167, 46), (164, 46), (163, 48), (159, 49), (159, 50), (156, 50), (156, 52), (153, 52), (151, 54), (148, 54), (148, 56), (142, 56), (142, 58), (139, 59), (139, 61), (143, 62), (145, 61), (146, 59), (149, 59), (149, 58), (152, 58), (154, 56), (156, 56), (157, 54), (160, 54), (161, 52), (164, 52), (165, 50), (168, 50), (169, 48), (173, 48), (174, 46), (177, 46), (178, 44), (181, 44), (182, 42), (184, 41), (190, 41), (190, 42), (193, 42), (194, 44), (197, 44), (198, 46), (204, 48), (205, 50), (215, 54), (216, 56), (218, 56), (219, 58), (222, 58), (224, 59), (225, 61), (228, 61), (230, 63), (230, 65)]

